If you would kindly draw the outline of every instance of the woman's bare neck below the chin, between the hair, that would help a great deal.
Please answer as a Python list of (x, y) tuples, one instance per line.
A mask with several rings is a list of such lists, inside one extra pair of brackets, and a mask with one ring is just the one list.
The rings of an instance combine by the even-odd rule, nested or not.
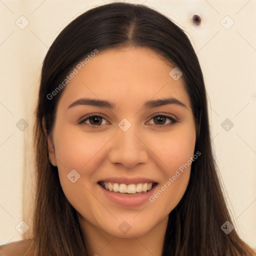
[(95, 227), (81, 216), (78, 218), (89, 256), (161, 256), (162, 254), (168, 216), (149, 232), (133, 238), (113, 236)]

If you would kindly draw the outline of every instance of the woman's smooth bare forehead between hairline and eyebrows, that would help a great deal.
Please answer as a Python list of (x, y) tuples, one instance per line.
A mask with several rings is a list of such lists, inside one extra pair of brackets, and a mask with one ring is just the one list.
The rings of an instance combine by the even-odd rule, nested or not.
[(113, 48), (93, 54), (80, 62), (64, 88), (60, 104), (69, 105), (82, 97), (108, 99), (116, 105), (175, 97), (190, 108), (182, 76), (174, 80), (174, 68), (145, 47)]

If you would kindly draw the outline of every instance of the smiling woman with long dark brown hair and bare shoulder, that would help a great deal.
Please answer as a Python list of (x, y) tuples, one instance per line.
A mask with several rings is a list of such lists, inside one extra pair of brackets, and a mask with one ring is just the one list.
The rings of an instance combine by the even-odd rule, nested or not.
[(105, 4), (60, 32), (34, 138), (33, 239), (3, 255), (256, 255), (221, 192), (196, 54), (157, 11)]

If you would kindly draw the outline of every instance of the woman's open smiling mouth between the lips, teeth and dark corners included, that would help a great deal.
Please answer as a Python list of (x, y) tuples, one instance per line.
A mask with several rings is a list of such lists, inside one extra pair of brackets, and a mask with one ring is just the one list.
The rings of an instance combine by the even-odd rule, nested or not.
[(116, 182), (104, 182), (99, 181), (97, 182), (101, 185), (104, 189), (119, 193), (119, 194), (126, 194), (126, 195), (136, 195), (142, 194), (150, 191), (152, 187), (157, 185), (155, 182), (145, 182), (145, 183), (137, 183), (137, 184), (124, 184), (124, 183), (116, 183)]

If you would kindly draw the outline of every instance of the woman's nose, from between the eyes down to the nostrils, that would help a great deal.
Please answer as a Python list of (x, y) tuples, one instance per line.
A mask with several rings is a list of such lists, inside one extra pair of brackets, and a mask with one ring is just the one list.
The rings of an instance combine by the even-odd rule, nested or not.
[(126, 131), (117, 131), (110, 144), (108, 159), (112, 163), (132, 168), (147, 161), (147, 150), (146, 141), (143, 141), (142, 136), (131, 126)]

